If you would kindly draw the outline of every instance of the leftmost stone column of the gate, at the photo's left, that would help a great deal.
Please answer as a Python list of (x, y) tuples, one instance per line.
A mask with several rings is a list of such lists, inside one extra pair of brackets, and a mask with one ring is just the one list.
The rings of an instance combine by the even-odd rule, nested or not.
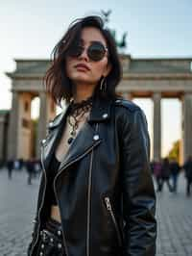
[(17, 91), (13, 90), (8, 136), (8, 159), (17, 158), (19, 120), (19, 95)]

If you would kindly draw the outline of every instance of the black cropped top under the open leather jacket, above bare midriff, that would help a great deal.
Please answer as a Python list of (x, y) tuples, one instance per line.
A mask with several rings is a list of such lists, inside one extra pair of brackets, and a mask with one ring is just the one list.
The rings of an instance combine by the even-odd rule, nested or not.
[(55, 196), (55, 192), (54, 192), (54, 178), (56, 177), (57, 173), (58, 173), (58, 169), (60, 166), (60, 162), (58, 161), (58, 159), (55, 156), (55, 153), (53, 154), (52, 160), (50, 162), (50, 166), (49, 166), (49, 188), (50, 188), (50, 203), (51, 205), (57, 205), (57, 200), (56, 200), (56, 196)]

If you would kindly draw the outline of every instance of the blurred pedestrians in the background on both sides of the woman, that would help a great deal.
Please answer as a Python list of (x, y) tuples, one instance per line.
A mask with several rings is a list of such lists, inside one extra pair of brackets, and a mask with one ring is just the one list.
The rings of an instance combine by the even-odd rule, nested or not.
[[(8, 177), (12, 179), (13, 170), (22, 170), (25, 169), (28, 173), (27, 183), (32, 184), (33, 178), (39, 176), (41, 171), (41, 164), (39, 160), (30, 159), (23, 161), (22, 159), (18, 160), (9, 160), (5, 163), (8, 169)], [(191, 194), (192, 187), (192, 156), (189, 156), (187, 161), (183, 166), (180, 166), (175, 159), (169, 160), (164, 158), (159, 162), (152, 162), (152, 172), (156, 180), (156, 192), (162, 192), (164, 184), (167, 185), (169, 192), (178, 191), (178, 179), (180, 173), (184, 171), (184, 176), (186, 179), (186, 195)], [(3, 167), (3, 165), (1, 165)]]

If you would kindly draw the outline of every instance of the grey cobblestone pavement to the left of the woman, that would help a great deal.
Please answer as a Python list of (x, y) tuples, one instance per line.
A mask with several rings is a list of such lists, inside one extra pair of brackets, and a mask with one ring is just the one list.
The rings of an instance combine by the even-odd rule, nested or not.
[(26, 171), (13, 171), (8, 179), (0, 170), (0, 256), (23, 256), (31, 238), (39, 179), (27, 184)]

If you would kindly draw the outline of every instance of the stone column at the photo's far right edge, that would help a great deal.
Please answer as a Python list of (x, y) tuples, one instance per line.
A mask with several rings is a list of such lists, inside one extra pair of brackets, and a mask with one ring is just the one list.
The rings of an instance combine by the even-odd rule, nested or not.
[(182, 100), (182, 161), (192, 155), (192, 93), (185, 93)]

